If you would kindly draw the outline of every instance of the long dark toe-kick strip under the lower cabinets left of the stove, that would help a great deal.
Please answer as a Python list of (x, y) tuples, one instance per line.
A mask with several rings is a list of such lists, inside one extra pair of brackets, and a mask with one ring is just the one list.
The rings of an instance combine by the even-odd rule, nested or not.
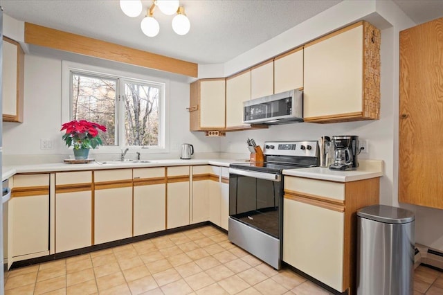
[(219, 229), (220, 231), (223, 231), (224, 233), (228, 232), (225, 229), (221, 229), (221, 227), (216, 226), (212, 222), (200, 222), (197, 224), (190, 224), (190, 225), (186, 225), (186, 226), (177, 227), (175, 229), (166, 229), (164, 231), (157, 231), (156, 233), (147, 233), (146, 235), (137, 235), (136, 237), (132, 237), (132, 238), (126, 238), (123, 240), (107, 242), (107, 243), (93, 245), (93, 246), (75, 249), (75, 250), (71, 250), (71, 251), (55, 253), (55, 254), (51, 254), (51, 255), (47, 255), (47, 256), (30, 258), (30, 259), (21, 260), (21, 261), (15, 261), (12, 263), (10, 269), (16, 269), (18, 267), (27, 267), (29, 265), (36, 265), (37, 263), (53, 261), (53, 260), (62, 259), (62, 258), (68, 258), (71, 256), (77, 256), (77, 255), (81, 255), (81, 254), (91, 253), (93, 251), (99, 251), (99, 250), (108, 249), (108, 248), (112, 248), (112, 247), (123, 246), (125, 244), (131, 244), (134, 242), (141, 242), (143, 240), (157, 238), (157, 237), (161, 237), (163, 235), (169, 235), (170, 233), (179, 233), (181, 231), (188, 231), (190, 229), (197, 229), (201, 226), (206, 226), (206, 225), (215, 226), (215, 228)]

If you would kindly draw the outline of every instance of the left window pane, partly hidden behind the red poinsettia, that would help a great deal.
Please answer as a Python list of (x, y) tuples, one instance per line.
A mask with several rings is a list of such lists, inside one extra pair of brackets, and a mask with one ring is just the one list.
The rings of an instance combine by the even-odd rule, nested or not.
[(73, 120), (89, 120), (105, 125), (103, 145), (116, 145), (117, 80), (72, 73), (71, 103)]

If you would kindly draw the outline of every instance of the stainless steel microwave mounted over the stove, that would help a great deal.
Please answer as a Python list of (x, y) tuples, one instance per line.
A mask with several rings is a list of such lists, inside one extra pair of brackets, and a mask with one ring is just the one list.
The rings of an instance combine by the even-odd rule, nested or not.
[(303, 92), (298, 89), (243, 102), (243, 122), (278, 125), (303, 121)]

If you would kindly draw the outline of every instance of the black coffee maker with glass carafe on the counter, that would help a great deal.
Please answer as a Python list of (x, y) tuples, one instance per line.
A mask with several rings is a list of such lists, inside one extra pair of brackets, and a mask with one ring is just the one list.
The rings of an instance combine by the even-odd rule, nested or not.
[(334, 143), (334, 161), (329, 166), (329, 169), (357, 170), (359, 167), (357, 155), (360, 154), (359, 136), (332, 136), (332, 143)]

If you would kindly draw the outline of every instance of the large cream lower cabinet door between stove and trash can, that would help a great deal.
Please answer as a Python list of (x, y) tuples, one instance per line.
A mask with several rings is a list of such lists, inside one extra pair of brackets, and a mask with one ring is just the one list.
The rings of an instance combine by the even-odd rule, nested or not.
[(283, 261), (343, 292), (343, 212), (284, 197)]

